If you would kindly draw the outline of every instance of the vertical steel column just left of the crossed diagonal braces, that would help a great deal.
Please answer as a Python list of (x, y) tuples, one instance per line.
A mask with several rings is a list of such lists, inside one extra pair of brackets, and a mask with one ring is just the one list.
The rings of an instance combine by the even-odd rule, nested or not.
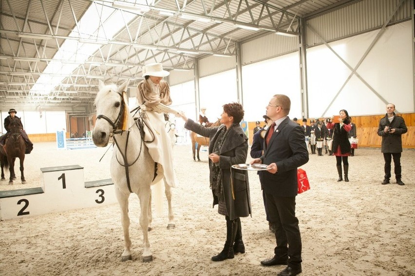
[(307, 91), (307, 53), (305, 43), (305, 24), (304, 19), (300, 19), (299, 37), (299, 60), (300, 60), (300, 91), (301, 91), (301, 115), (308, 118), (308, 91)]

